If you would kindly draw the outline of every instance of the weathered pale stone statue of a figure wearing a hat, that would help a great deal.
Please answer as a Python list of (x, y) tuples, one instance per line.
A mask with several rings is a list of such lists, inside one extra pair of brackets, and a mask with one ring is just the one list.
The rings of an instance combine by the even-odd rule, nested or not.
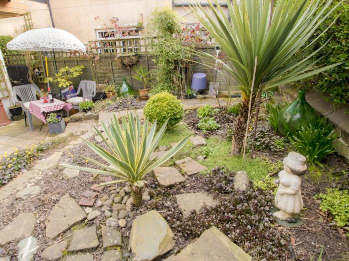
[(301, 175), (307, 170), (307, 159), (297, 153), (290, 152), (284, 159), (284, 170), (279, 172), (279, 184), (275, 195), (275, 207), (280, 209), (274, 216), (288, 223), (296, 223), (299, 212), (303, 209), (301, 194)]

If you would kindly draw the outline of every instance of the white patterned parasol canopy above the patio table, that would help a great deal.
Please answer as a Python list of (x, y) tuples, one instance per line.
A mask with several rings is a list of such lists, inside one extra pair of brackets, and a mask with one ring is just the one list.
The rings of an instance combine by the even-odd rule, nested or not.
[(85, 45), (73, 34), (57, 28), (33, 29), (21, 33), (6, 44), (9, 50), (19, 51), (82, 51)]

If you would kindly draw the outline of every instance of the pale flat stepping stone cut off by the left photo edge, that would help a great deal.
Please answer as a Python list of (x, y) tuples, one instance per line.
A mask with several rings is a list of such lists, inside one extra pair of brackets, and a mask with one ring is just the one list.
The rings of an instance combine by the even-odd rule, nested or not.
[(17, 238), (29, 237), (36, 224), (33, 213), (20, 213), (11, 223), (0, 230), (0, 246), (4, 246)]

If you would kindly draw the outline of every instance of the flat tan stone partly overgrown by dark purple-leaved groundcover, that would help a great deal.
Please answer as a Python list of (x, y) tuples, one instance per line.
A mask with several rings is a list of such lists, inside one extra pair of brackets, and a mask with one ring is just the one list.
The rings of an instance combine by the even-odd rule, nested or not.
[(201, 208), (206, 205), (207, 207), (214, 207), (219, 202), (215, 200), (212, 195), (206, 193), (184, 193), (175, 196), (177, 204), (182, 212), (183, 216), (190, 215), (190, 212), (195, 210), (199, 213)]

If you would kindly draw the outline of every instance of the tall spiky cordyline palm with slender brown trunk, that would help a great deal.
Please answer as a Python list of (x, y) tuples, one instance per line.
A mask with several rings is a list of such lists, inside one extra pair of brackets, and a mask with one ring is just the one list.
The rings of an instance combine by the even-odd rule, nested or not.
[(231, 150), (233, 155), (238, 155), (252, 89), (254, 101), (261, 90), (298, 81), (341, 64), (315, 67), (321, 58), (314, 60), (313, 57), (325, 45), (312, 52), (321, 35), (311, 37), (342, 1), (329, 10), (332, 0), (277, 0), (272, 11), (271, 0), (240, 0), (239, 4), (237, 0), (227, 0), (230, 21), (217, 0), (214, 1), (217, 7), (212, 1), (208, 2), (208, 10), (198, 3), (191, 8), (224, 52), (227, 61), (221, 62), (223, 68), (240, 85), (241, 110)]

